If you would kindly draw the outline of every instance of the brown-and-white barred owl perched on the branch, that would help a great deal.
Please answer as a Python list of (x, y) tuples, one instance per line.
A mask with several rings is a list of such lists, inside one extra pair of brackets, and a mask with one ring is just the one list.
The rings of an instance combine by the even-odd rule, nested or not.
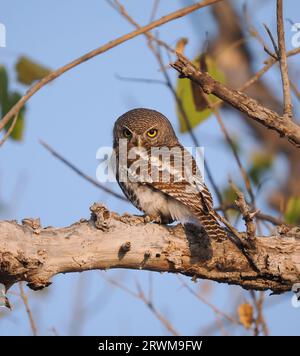
[(224, 239), (212, 196), (193, 156), (180, 144), (170, 121), (151, 109), (133, 109), (113, 129), (116, 179), (148, 221), (178, 221)]

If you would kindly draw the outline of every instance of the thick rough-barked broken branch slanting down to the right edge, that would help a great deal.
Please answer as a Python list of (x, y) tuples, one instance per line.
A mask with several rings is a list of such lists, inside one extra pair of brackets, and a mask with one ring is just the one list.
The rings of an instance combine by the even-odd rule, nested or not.
[(171, 66), (180, 73), (182, 78), (191, 79), (200, 85), (205, 93), (216, 95), (235, 109), (246, 114), (249, 118), (278, 132), (281, 137), (287, 137), (289, 142), (300, 148), (300, 127), (297, 124), (259, 104), (256, 100), (241, 91), (232, 89), (216, 81), (208, 73), (197, 70), (195, 66), (180, 53), (177, 53), (177, 57), (177, 61), (172, 63)]

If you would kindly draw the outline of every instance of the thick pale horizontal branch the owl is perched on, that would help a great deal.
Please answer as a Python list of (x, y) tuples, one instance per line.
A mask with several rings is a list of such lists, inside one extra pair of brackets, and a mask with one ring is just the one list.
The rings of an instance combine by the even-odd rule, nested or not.
[(64, 228), (41, 228), (30, 219), (22, 225), (0, 222), (0, 283), (27, 281), (40, 289), (59, 273), (111, 268), (181, 273), (274, 293), (300, 280), (298, 228), (257, 237), (257, 273), (229, 240), (211, 241), (181, 226), (145, 224), (141, 217), (119, 216), (97, 204), (91, 210), (90, 220)]

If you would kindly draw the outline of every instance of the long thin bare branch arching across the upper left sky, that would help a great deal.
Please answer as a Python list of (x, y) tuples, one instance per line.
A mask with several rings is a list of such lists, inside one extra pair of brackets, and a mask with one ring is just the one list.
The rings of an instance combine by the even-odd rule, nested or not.
[(176, 20), (178, 18), (181, 18), (183, 16), (186, 16), (193, 11), (196, 11), (198, 9), (201, 9), (203, 7), (215, 4), (217, 2), (220, 2), (222, 0), (203, 0), (200, 2), (197, 2), (196, 4), (193, 4), (191, 6), (187, 6), (184, 8), (181, 8), (177, 11), (174, 11), (166, 16), (161, 17), (160, 19), (151, 22), (150, 24), (141, 27), (140, 29), (137, 29), (135, 31), (129, 32), (121, 37), (116, 38), (115, 40), (112, 40), (108, 43), (106, 43), (103, 46), (100, 46), (83, 56), (73, 60), (72, 62), (54, 70), (51, 72), (49, 75), (44, 77), (42, 80), (34, 84), (29, 90), (26, 92), (26, 94), (9, 110), (9, 112), (2, 118), (0, 121), (0, 131), (3, 130), (3, 128), (8, 124), (8, 122), (20, 111), (20, 109), (24, 106), (24, 104), (41, 88), (43, 88), (46, 84), (52, 82), (54, 79), (58, 78), (62, 74), (66, 73), (70, 69), (78, 66), (79, 64), (82, 64), (104, 52), (107, 52), (108, 50), (117, 47), (118, 45), (129, 41), (133, 39), (134, 37), (137, 37), (145, 32), (149, 32), (150, 30), (153, 30), (154, 28), (157, 28), (159, 26), (162, 26), (170, 21)]

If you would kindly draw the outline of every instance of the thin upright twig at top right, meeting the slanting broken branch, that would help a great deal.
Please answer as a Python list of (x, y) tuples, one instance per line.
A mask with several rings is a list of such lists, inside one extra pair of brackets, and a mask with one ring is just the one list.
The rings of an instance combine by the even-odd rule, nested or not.
[(291, 98), (287, 57), (285, 51), (282, 0), (277, 0), (277, 36), (278, 36), (278, 47), (279, 47), (278, 57), (280, 63), (282, 88), (283, 88), (284, 117), (287, 119), (291, 119), (293, 117), (293, 104)]

